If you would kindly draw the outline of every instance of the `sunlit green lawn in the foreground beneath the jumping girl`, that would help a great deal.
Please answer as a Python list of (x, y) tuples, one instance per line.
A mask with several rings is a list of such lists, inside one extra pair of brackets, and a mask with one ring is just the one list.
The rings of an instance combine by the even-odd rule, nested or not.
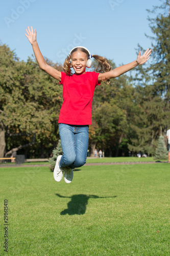
[(168, 163), (83, 166), (70, 184), (48, 167), (0, 168), (8, 255), (169, 255)]

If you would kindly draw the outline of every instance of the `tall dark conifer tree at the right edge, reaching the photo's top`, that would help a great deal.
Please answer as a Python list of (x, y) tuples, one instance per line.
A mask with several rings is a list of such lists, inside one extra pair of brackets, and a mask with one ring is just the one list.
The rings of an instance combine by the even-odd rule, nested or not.
[[(143, 65), (136, 72), (136, 104), (139, 106), (136, 121), (132, 124), (134, 138), (129, 148), (142, 150), (154, 155), (155, 146), (160, 135), (166, 136), (168, 120), (170, 118), (170, 12), (169, 0), (161, 0), (159, 7), (154, 7), (148, 17), (150, 28), (154, 36), (152, 40), (153, 61)], [(157, 10), (160, 13), (157, 13)], [(139, 46), (140, 49), (142, 47)], [(143, 50), (143, 49), (142, 49)]]

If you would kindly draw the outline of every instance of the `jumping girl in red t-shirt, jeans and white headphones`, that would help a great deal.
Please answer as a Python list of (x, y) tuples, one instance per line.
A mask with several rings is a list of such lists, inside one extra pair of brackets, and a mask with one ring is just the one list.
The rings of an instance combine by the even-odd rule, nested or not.
[[(147, 62), (152, 50), (148, 49), (142, 56), (139, 51), (137, 60), (112, 70), (106, 58), (91, 55), (87, 48), (79, 46), (70, 51), (63, 64), (64, 72), (60, 72), (45, 62), (36, 41), (36, 30), (33, 30), (33, 27), (30, 30), (28, 27), (26, 32), (25, 35), (32, 44), (40, 69), (63, 85), (64, 101), (58, 120), (63, 155), (57, 158), (54, 179), (61, 181), (64, 173), (65, 182), (70, 183), (73, 178), (73, 169), (86, 163), (88, 127), (91, 124), (91, 104), (95, 87), (99, 86), (101, 81), (108, 84), (111, 78), (118, 77)], [(86, 67), (91, 67), (92, 57), (99, 64), (95, 72), (86, 72)], [(74, 69), (74, 74), (71, 68)]]

